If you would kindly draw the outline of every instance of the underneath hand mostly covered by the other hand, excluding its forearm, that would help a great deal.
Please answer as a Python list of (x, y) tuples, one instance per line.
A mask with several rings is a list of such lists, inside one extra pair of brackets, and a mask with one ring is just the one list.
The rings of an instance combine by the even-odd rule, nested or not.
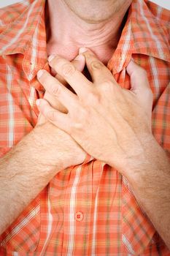
[[(85, 67), (85, 57), (77, 56), (77, 58), (72, 61), (72, 65), (77, 70), (82, 72)], [(66, 80), (64, 80), (60, 75), (55, 75), (55, 78), (58, 79), (63, 84), (63, 86), (69, 86)], [(51, 84), (51, 86), (53, 86), (53, 84)], [(55, 94), (55, 91), (53, 91), (53, 93)], [(50, 102), (50, 105), (53, 106), (53, 108), (55, 108), (56, 110), (61, 111), (61, 113), (67, 113), (66, 108), (64, 108), (61, 102), (59, 102), (59, 100), (56, 99), (53, 94), (50, 94), (48, 91), (46, 91), (44, 99)], [(41, 128), (39, 129), (39, 127)], [(45, 138), (45, 136), (47, 136), (49, 140), (50, 138), (52, 140), (50, 147), (53, 148), (53, 151), (51, 151), (50, 156), (49, 154), (47, 156), (50, 157), (52, 162), (55, 162), (57, 160), (56, 151), (58, 151), (58, 146), (60, 148), (61, 154), (64, 154), (64, 152), (68, 152), (67, 156), (70, 156), (68, 159), (66, 159), (65, 167), (71, 165), (80, 165), (82, 162), (84, 162), (86, 156), (85, 151), (82, 150), (82, 148), (73, 140), (70, 135), (68, 135), (66, 132), (63, 132), (63, 130), (55, 127), (53, 124), (47, 121), (42, 113), (39, 113), (36, 128), (39, 129), (38, 132), (41, 132), (42, 138)], [(56, 144), (58, 145), (57, 147)]]

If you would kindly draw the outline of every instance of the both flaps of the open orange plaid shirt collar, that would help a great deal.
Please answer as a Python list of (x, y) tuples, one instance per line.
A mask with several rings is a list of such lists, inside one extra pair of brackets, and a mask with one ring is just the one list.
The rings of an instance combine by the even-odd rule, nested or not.
[[(27, 1), (22, 2), (25, 5), (26, 3)], [(16, 4), (15, 7), (19, 5)], [(14, 15), (14, 20), (8, 20), (4, 26), (1, 26), (0, 55), (23, 53), (23, 69), (28, 80), (31, 80), (47, 62), (47, 56), (42, 56), (42, 50), (45, 53), (47, 48), (44, 18), (45, 0), (29, 0), (28, 7), (18, 9), (17, 13), (17, 18)], [(147, 1), (132, 1), (117, 49), (109, 60), (109, 69), (113, 74), (120, 72), (128, 65), (132, 54), (135, 53), (169, 61), (170, 53), (167, 38), (166, 30), (161, 26), (160, 20), (155, 18), (147, 7)], [(38, 50), (39, 44), (42, 47), (40, 51)], [(33, 52), (36, 53), (36, 56)]]

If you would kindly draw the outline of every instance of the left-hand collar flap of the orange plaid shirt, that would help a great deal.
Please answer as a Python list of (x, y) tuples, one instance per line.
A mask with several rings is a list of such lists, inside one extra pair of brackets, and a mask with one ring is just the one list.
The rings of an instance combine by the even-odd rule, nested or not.
[[(28, 81), (36, 78), (39, 69), (50, 71), (47, 64), (47, 43), (45, 31), (45, 0), (29, 0), (12, 5), (15, 19), (4, 23), (0, 34), (0, 55), (23, 54), (23, 72)], [(8, 12), (10, 10), (7, 10)], [(5, 11), (4, 11), (5, 12)], [(16, 17), (18, 13), (18, 17)], [(8, 15), (7, 15), (8, 16)], [(9, 42), (7, 42), (7, 40)], [(7, 60), (8, 60), (7, 58)], [(38, 80), (32, 85), (44, 91)]]

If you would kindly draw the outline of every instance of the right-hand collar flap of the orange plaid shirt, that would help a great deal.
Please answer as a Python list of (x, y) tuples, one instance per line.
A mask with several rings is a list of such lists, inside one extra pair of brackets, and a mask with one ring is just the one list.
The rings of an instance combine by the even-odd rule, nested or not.
[[(132, 54), (144, 54), (164, 61), (170, 60), (169, 33), (158, 17), (147, 6), (148, 1), (134, 0), (128, 10), (128, 18), (123, 28), (117, 49), (108, 63), (115, 74), (127, 67)], [(162, 7), (152, 4), (152, 7)], [(166, 12), (166, 10), (163, 10)], [(167, 12), (169, 12), (167, 10)], [(167, 13), (168, 17), (168, 13)]]

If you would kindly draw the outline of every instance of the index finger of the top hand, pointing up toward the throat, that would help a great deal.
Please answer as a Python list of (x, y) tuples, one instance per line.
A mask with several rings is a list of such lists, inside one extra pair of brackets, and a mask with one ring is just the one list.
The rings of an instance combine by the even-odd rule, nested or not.
[[(107, 80), (115, 82), (112, 73), (101, 61), (98, 60), (96, 55), (91, 50), (87, 48), (80, 48), (80, 53), (85, 56), (88, 71), (90, 72), (94, 83), (105, 83)], [(117, 83), (115, 82), (115, 84)]]

